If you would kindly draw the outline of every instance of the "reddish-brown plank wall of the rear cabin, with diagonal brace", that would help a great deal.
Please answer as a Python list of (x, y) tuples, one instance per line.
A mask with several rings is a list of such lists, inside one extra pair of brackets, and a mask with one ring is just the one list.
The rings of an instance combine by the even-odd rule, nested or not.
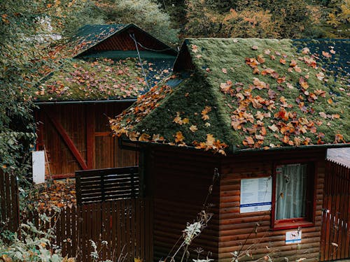
[(40, 105), (36, 111), (36, 150), (45, 151), (46, 175), (71, 177), (76, 170), (138, 164), (138, 153), (122, 150), (111, 137), (107, 116), (130, 103), (69, 103)]

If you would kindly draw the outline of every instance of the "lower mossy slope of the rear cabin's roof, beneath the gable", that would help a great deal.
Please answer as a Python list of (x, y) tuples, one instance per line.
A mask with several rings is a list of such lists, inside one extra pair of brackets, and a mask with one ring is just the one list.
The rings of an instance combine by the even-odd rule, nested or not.
[[(148, 85), (169, 75), (172, 62), (143, 61)], [(136, 99), (148, 90), (139, 59), (64, 59), (34, 87), (34, 101)]]

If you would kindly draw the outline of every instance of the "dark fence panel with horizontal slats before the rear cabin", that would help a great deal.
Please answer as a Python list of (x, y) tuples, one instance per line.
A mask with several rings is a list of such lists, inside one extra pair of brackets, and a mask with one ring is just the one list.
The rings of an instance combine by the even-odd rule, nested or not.
[(79, 205), (138, 195), (138, 166), (76, 171), (76, 201)]

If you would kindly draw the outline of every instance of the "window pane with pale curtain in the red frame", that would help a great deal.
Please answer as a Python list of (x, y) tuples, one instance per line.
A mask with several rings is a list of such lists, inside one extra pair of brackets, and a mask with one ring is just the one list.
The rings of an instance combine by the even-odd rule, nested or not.
[(305, 217), (307, 164), (277, 166), (275, 219)]

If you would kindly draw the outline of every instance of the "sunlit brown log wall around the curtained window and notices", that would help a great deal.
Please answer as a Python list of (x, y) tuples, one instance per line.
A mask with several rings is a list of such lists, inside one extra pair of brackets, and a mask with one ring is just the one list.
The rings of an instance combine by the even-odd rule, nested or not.
[[(272, 175), (274, 165), (280, 161), (314, 158), (316, 177), (314, 182), (314, 226), (302, 228), (302, 242), (286, 245), (286, 231), (272, 229), (272, 212), (250, 212), (240, 214), (241, 179)], [(325, 175), (325, 150), (294, 152), (261, 152), (261, 154), (242, 154), (223, 159), (221, 173), (219, 261), (231, 261), (230, 252), (245, 253), (239, 261), (251, 261), (269, 254), (274, 261), (318, 261), (321, 238), (321, 209)], [(309, 190), (309, 189), (308, 189)], [(274, 205), (272, 203), (272, 205)], [(259, 224), (260, 226), (256, 227)], [(255, 230), (256, 227), (256, 230)], [(287, 258), (288, 260), (285, 260)]]

